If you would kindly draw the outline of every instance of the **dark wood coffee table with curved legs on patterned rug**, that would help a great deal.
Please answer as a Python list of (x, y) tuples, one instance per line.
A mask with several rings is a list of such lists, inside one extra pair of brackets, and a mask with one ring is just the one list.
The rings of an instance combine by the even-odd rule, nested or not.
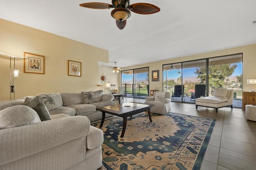
[[(129, 106), (129, 107), (127, 107), (127, 106)], [(126, 123), (127, 123), (127, 117), (129, 117), (129, 116), (132, 117), (132, 115), (141, 113), (143, 111), (148, 111), (148, 118), (149, 118), (150, 122), (152, 122), (151, 113), (150, 113), (150, 109), (152, 106), (154, 106), (154, 105), (129, 102), (129, 103), (117, 104), (117, 105), (113, 105), (113, 106), (100, 107), (97, 109), (99, 111), (102, 111), (102, 119), (101, 119), (100, 127), (102, 127), (102, 125), (104, 123), (106, 113), (122, 117), (122, 118), (124, 118), (124, 121), (123, 121), (123, 129), (122, 129), (121, 137), (124, 137)]]

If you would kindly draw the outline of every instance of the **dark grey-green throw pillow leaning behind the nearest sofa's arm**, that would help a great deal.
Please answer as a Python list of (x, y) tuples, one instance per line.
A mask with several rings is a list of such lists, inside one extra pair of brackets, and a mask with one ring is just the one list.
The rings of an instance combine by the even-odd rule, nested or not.
[(31, 107), (39, 115), (41, 121), (51, 120), (50, 113), (45, 104), (37, 97), (27, 97), (25, 99), (26, 106)]

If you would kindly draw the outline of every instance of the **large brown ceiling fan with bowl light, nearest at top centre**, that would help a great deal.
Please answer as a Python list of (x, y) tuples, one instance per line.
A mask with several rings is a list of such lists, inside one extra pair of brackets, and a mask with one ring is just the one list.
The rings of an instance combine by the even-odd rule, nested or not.
[(130, 5), (130, 0), (112, 0), (112, 5), (101, 2), (88, 2), (80, 4), (80, 6), (92, 9), (115, 8), (114, 10), (112, 10), (111, 16), (116, 19), (116, 26), (119, 29), (124, 29), (126, 25), (126, 19), (131, 16), (130, 11), (137, 14), (154, 14), (160, 11), (160, 8), (153, 4), (136, 3)]

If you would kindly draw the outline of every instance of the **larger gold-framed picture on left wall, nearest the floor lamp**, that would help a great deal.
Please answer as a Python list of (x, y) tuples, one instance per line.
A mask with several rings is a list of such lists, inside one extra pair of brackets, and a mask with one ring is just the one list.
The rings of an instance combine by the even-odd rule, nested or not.
[(44, 56), (24, 52), (24, 72), (44, 74)]

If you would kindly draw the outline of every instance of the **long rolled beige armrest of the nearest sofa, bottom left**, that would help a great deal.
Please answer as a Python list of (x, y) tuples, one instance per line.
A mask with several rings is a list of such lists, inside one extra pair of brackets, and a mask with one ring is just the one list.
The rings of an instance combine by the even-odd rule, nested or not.
[(0, 165), (88, 135), (85, 116), (64, 117), (0, 130)]

